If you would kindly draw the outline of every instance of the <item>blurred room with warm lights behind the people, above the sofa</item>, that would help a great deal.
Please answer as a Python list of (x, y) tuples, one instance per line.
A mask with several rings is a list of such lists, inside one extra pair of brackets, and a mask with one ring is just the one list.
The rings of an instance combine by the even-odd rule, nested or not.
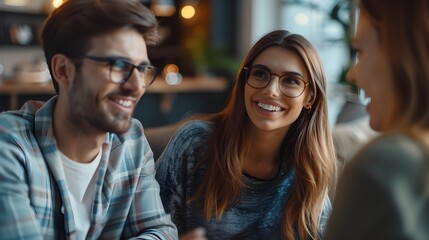
[[(0, 0), (0, 111), (54, 94), (38, 32), (62, 0)], [(241, 59), (265, 33), (287, 29), (318, 49), (328, 79), (332, 125), (359, 117), (364, 104), (345, 82), (355, 0), (141, 0), (160, 23), (162, 42), (150, 47), (162, 76), (142, 97), (135, 117), (145, 127), (192, 113), (219, 111)], [(346, 109), (347, 106), (347, 109)], [(350, 107), (351, 106), (351, 107)]]

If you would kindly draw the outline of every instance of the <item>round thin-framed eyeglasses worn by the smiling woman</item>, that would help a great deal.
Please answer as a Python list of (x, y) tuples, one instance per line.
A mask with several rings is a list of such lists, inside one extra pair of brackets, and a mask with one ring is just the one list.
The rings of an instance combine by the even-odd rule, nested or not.
[(309, 83), (305, 82), (300, 76), (293, 73), (279, 75), (272, 73), (271, 70), (264, 65), (254, 65), (252, 67), (244, 67), (246, 70), (247, 84), (256, 89), (262, 89), (268, 86), (273, 79), (273, 76), (279, 78), (279, 89), (283, 95), (296, 98), (301, 96)]

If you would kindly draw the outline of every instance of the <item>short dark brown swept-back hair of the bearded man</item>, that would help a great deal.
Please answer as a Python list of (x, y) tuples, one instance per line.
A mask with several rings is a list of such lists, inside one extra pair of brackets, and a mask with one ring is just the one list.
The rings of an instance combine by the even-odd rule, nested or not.
[[(49, 15), (42, 28), (41, 41), (52, 78), (55, 54), (84, 56), (92, 37), (124, 27), (137, 30), (148, 45), (158, 41), (155, 15), (138, 0), (66, 1)], [(58, 93), (55, 79), (53, 84)]]

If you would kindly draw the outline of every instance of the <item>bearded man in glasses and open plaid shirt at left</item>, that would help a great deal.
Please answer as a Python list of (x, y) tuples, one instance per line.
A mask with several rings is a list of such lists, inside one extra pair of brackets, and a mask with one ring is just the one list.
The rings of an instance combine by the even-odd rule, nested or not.
[(133, 110), (158, 70), (137, 0), (73, 0), (42, 44), (57, 95), (0, 114), (0, 238), (177, 239)]

